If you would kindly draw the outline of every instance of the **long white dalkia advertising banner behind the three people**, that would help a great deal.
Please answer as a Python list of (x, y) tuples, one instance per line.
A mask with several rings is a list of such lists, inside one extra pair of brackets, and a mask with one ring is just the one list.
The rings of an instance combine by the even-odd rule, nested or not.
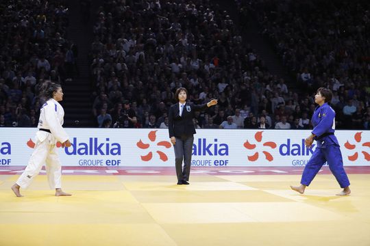
[[(27, 165), (36, 128), (0, 128), (0, 166)], [(63, 166), (166, 167), (175, 165), (167, 129), (66, 128), (72, 146), (58, 147)], [(316, 148), (308, 130), (199, 129), (196, 167), (301, 167)], [(370, 165), (370, 131), (336, 131), (344, 165)]]

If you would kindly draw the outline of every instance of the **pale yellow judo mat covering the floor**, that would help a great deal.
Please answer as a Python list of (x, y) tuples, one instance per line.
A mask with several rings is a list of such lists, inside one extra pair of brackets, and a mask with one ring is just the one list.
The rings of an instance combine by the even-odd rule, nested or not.
[(304, 195), (299, 175), (46, 176), (15, 197), (18, 176), (0, 176), (0, 245), (370, 245), (370, 174), (350, 174), (338, 197), (319, 175)]

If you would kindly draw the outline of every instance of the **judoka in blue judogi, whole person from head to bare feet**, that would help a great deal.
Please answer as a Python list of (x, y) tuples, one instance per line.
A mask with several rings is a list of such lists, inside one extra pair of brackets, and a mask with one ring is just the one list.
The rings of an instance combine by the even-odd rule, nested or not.
[(304, 193), (325, 162), (328, 163), (330, 171), (343, 188), (343, 191), (336, 195), (349, 195), (351, 193), (349, 180), (343, 168), (341, 149), (338, 139), (334, 135), (335, 111), (328, 105), (330, 100), (332, 100), (332, 92), (323, 87), (319, 88), (314, 96), (314, 101), (319, 106), (316, 107), (312, 115), (311, 121), (314, 128), (311, 135), (306, 138), (305, 144), (306, 147), (310, 148), (313, 141), (316, 140), (317, 147), (304, 168), (301, 185), (299, 187), (291, 186), (291, 189), (301, 194)]

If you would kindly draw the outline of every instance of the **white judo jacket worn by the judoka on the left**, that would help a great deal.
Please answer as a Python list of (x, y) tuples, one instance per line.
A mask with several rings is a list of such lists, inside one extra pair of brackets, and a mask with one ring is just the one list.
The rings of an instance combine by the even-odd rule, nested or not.
[[(57, 141), (64, 143), (68, 140), (69, 136), (62, 127), (64, 122), (63, 118), (64, 109), (62, 105), (53, 98), (47, 100), (40, 109), (40, 118), (37, 127), (50, 130), (51, 134), (45, 131), (38, 131), (36, 133), (38, 141), (42, 142), (48, 137), (49, 144), (56, 144)], [(52, 137), (50, 135), (52, 135)]]

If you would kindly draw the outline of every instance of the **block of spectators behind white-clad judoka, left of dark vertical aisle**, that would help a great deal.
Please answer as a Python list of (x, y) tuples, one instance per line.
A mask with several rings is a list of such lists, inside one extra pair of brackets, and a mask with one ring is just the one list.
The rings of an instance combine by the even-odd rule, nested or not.
[(63, 1), (0, 2), (0, 126), (37, 126), (40, 87), (73, 72)]

